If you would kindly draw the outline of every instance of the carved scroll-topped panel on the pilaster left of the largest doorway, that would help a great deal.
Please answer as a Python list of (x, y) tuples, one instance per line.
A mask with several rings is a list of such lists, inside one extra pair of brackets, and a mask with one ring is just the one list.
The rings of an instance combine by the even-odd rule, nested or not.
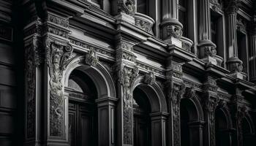
[(46, 63), (50, 74), (50, 136), (64, 138), (63, 71), (72, 53), (72, 46), (46, 40)]

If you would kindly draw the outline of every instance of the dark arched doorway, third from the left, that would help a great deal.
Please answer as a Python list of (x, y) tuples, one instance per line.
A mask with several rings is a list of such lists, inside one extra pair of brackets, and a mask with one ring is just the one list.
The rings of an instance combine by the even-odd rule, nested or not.
[(203, 145), (203, 119), (200, 119), (200, 107), (196, 106), (195, 100), (181, 99), (181, 146)]

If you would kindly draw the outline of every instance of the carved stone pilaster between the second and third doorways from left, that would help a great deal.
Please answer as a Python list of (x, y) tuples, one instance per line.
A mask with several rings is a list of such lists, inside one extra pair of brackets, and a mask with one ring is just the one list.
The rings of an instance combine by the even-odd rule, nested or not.
[(180, 126), (180, 102), (185, 91), (185, 85), (182, 80), (182, 64), (172, 61), (168, 58), (167, 61), (167, 104), (168, 112), (168, 145), (181, 145), (181, 126)]

